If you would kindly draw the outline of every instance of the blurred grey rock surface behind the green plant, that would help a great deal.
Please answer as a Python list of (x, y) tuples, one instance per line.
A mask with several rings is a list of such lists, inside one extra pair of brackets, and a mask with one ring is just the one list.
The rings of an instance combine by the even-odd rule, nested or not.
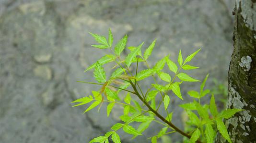
[[(85, 107), (71, 107), (71, 101), (99, 89), (76, 82), (93, 81), (93, 71), (83, 71), (106, 53), (90, 46), (94, 41), (89, 31), (107, 35), (111, 28), (114, 43), (128, 34), (128, 46), (145, 41), (143, 50), (157, 39), (150, 65), (169, 53), (176, 61), (179, 49), (186, 56), (202, 48), (191, 63), (200, 69), (191, 76), (203, 80), (210, 73), (208, 88), (214, 86), (212, 79), (226, 82), (233, 50), (233, 7), (233, 0), (1, 0), (0, 142), (88, 143), (120, 122), (118, 105), (109, 118), (105, 105), (100, 112), (85, 114), (81, 114)], [(143, 83), (144, 89), (148, 85)], [(181, 87), (185, 102), (191, 99), (186, 92), (199, 85)], [(185, 102), (177, 99), (170, 109), (180, 128), (182, 109), (177, 104)], [(149, 143), (146, 138), (161, 127), (152, 123), (144, 136), (134, 140), (120, 132), (121, 139)], [(182, 136), (162, 138), (165, 143), (170, 140), (182, 142)]]

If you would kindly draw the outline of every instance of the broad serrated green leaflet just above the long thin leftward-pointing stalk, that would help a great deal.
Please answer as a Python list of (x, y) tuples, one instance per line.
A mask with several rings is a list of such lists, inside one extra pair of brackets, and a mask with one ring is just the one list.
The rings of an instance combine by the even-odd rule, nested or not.
[(105, 74), (104, 68), (98, 61), (95, 65), (93, 74), (94, 74), (96, 81), (101, 82), (101, 83), (106, 82), (106, 74)]

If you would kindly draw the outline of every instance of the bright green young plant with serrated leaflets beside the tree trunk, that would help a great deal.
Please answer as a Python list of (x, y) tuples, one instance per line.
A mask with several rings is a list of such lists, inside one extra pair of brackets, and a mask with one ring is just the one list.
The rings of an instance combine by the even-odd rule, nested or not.
[[(124, 114), (120, 116), (120, 120), (122, 120), (123, 123), (114, 124), (111, 127), (111, 131), (105, 133), (104, 136), (94, 138), (90, 143), (109, 143), (108, 139), (110, 136), (114, 143), (121, 143), (120, 137), (117, 134), (118, 130), (123, 129), (124, 132), (132, 134), (133, 138), (135, 138), (138, 135), (142, 135), (143, 131), (149, 127), (151, 122), (156, 122), (163, 126), (163, 129), (158, 134), (149, 138), (151, 139), (152, 143), (156, 143), (157, 139), (163, 135), (175, 132), (187, 137), (184, 142), (212, 143), (217, 131), (219, 131), (221, 135), (231, 143), (231, 139), (227, 132), (226, 126), (222, 122), (222, 119), (228, 119), (234, 113), (241, 110), (228, 109), (219, 113), (217, 111), (213, 95), (211, 96), (209, 104), (202, 105), (200, 103), (200, 98), (204, 97), (210, 92), (209, 90), (204, 90), (208, 75), (202, 82), (199, 92), (188, 92), (188, 95), (196, 98), (197, 100), (179, 105), (180, 107), (184, 108), (189, 117), (189, 120), (186, 122), (187, 125), (185, 127), (185, 131), (182, 131), (172, 123), (173, 112), (169, 113), (167, 110), (171, 95), (173, 93), (178, 98), (183, 100), (180, 91), (180, 84), (183, 82), (200, 82), (199, 80), (190, 77), (186, 73), (181, 72), (181, 70), (186, 71), (198, 68), (188, 65), (187, 62), (191, 61), (198, 51), (200, 51), (200, 49), (187, 56), (184, 61), (181, 51), (179, 51), (179, 67), (177, 67), (175, 62), (169, 59), (169, 55), (164, 57), (162, 60), (157, 61), (153, 67), (150, 67), (147, 59), (151, 55), (156, 41), (151, 43), (151, 45), (144, 51), (143, 55), (141, 53), (143, 43), (141, 43), (138, 47), (128, 47), (130, 53), (126, 57), (122, 57), (124, 55), (121, 56), (121, 53), (126, 48), (128, 38), (127, 35), (118, 41), (115, 48), (113, 48), (113, 35), (110, 29), (108, 41), (104, 36), (93, 33), (90, 34), (95, 38), (95, 41), (100, 43), (99, 45), (92, 45), (93, 47), (99, 49), (110, 49), (113, 53), (100, 58), (97, 62), (85, 70), (86, 72), (90, 69), (94, 69), (93, 74), (97, 83), (78, 81), (83, 83), (97, 84), (100, 85), (101, 88), (98, 91), (92, 91), (93, 96), (90, 95), (88, 97), (83, 97), (73, 101), (72, 103), (80, 102), (79, 104), (74, 105), (79, 106), (93, 102), (84, 111), (85, 113), (98, 105), (100, 109), (101, 105), (106, 102), (108, 103), (106, 109), (107, 116), (109, 116), (111, 110), (116, 104), (124, 107)], [(115, 69), (115, 71), (110, 77), (106, 78), (103, 65), (109, 62), (115, 62), (116, 65), (112, 68)], [(144, 62), (148, 69), (138, 71), (140, 62)], [(129, 69), (132, 63), (136, 64), (136, 70), (134, 71)], [(167, 63), (170, 69), (169, 72), (163, 72), (165, 63)], [(170, 75), (171, 73), (173, 73), (172, 78)], [(146, 92), (143, 92), (140, 83), (149, 77), (154, 80), (154, 83), (151, 84), (151, 87), (149, 87)], [(161, 84), (158, 83), (157, 78), (160, 78), (163, 83), (162, 81)], [(156, 96), (162, 97), (162, 101), (158, 103), (158, 105), (155, 102)], [(135, 99), (139, 100), (140, 103)], [(163, 106), (161, 106), (162, 104)], [(164, 107), (164, 113), (159, 112), (160, 107)], [(131, 125), (133, 122), (140, 122), (137, 129)]]

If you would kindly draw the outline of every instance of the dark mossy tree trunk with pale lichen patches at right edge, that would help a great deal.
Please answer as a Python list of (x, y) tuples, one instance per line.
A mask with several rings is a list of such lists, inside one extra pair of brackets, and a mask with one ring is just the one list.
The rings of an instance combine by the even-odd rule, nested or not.
[[(233, 143), (256, 143), (256, 0), (236, 0), (234, 49), (226, 108), (244, 109), (225, 121)], [(218, 134), (217, 143), (226, 142)]]

